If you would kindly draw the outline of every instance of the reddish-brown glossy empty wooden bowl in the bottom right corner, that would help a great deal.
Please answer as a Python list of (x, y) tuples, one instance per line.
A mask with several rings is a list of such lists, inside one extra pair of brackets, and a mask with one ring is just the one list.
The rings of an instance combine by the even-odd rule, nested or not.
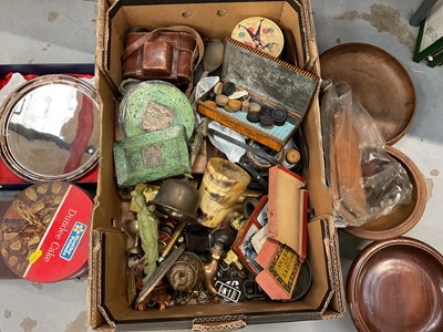
[(354, 259), (347, 300), (359, 331), (443, 331), (443, 256), (400, 237), (372, 242)]

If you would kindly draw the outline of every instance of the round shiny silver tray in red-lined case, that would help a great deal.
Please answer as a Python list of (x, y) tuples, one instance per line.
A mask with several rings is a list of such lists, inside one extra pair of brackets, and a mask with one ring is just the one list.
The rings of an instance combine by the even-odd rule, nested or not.
[(83, 80), (44, 75), (20, 85), (1, 107), (1, 154), (24, 180), (73, 180), (99, 157), (99, 103)]

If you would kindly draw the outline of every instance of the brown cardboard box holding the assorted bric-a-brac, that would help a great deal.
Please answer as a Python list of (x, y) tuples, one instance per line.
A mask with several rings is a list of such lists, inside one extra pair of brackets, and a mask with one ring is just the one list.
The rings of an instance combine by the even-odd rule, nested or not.
[[(308, 224), (308, 259), (312, 286), (295, 302), (250, 301), (216, 305), (184, 305), (159, 311), (135, 311), (127, 303), (126, 236), (120, 224), (124, 212), (114, 178), (116, 87), (122, 80), (124, 33), (132, 25), (151, 28), (190, 25), (210, 39), (230, 35), (235, 24), (261, 15), (293, 32), (303, 68), (319, 75), (318, 51), (309, 0), (287, 1), (99, 1), (96, 77), (102, 98), (102, 141), (96, 206), (91, 235), (89, 323), (96, 331), (207, 328), (228, 330), (244, 324), (340, 318), (344, 311), (338, 238), (331, 218), (331, 200), (324, 185), (319, 125), (318, 92), (303, 121), (309, 165), (303, 173), (315, 215)], [(301, 58), (301, 56), (300, 56)]]

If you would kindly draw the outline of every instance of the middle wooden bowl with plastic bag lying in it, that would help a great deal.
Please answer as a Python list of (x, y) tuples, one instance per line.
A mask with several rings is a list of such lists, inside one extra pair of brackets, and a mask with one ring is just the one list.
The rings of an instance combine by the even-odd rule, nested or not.
[(388, 240), (400, 237), (412, 229), (423, 216), (426, 206), (426, 184), (415, 164), (402, 152), (392, 146), (385, 147), (388, 154), (406, 169), (413, 191), (409, 204), (401, 205), (387, 216), (373, 219), (360, 227), (347, 227), (344, 231), (365, 240)]

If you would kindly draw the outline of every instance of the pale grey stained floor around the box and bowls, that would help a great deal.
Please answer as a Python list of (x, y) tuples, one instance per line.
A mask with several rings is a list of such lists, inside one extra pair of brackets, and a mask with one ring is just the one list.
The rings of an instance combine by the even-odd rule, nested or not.
[[(411, 61), (418, 29), (408, 24), (421, 0), (311, 0), (319, 51), (351, 41), (372, 43), (393, 54), (414, 81), (416, 117), (395, 147), (408, 154), (427, 184), (427, 206), (409, 234), (443, 252), (443, 69)], [(441, 0), (442, 1), (442, 0)], [(92, 63), (96, 3), (91, 0), (0, 0), (0, 63)], [(440, 175), (442, 173), (442, 175)], [(352, 252), (343, 237), (344, 277)], [(359, 247), (360, 248), (360, 247)], [(86, 280), (53, 284), (0, 281), (0, 332), (89, 331)], [(245, 331), (354, 331), (349, 314), (332, 321), (247, 326)]]

